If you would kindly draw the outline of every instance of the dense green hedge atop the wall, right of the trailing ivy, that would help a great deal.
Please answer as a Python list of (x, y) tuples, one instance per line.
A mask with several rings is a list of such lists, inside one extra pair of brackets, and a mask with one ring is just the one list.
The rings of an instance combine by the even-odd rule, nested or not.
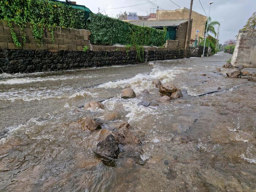
[(86, 29), (91, 31), (90, 40), (94, 44), (162, 46), (165, 43), (166, 30), (136, 26), (104, 15), (91, 14)]

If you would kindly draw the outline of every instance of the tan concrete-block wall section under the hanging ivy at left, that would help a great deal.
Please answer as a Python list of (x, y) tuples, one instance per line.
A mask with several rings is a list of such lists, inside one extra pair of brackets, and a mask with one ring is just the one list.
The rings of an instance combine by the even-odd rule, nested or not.
[(26, 41), (23, 44), (22, 30), (13, 24), (14, 31), (21, 42), (20, 47), (16, 47), (10, 27), (5, 20), (0, 20), (0, 49), (25, 49), (25, 50), (83, 50), (84, 45), (89, 45), (89, 35), (91, 31), (83, 29), (69, 29), (56, 27), (53, 33), (54, 43), (51, 40), (50, 31), (45, 29), (43, 32), (43, 44), (38, 44), (33, 37), (31, 24), (26, 23)]

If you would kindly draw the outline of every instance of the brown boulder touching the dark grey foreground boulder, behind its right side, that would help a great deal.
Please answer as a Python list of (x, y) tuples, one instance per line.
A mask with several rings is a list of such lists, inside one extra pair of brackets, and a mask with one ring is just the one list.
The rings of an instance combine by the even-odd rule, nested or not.
[(118, 129), (117, 133), (117, 142), (119, 144), (139, 144), (140, 140), (133, 135), (126, 127)]

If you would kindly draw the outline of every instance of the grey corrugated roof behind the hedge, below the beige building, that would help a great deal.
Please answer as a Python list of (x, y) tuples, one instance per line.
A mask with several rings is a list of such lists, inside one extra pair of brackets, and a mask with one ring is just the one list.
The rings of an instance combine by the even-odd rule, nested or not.
[[(187, 22), (188, 19), (172, 19), (172, 20), (137, 20), (129, 21), (129, 23), (144, 27), (177, 27), (181, 23)], [(144, 25), (143, 25), (144, 24)]]

